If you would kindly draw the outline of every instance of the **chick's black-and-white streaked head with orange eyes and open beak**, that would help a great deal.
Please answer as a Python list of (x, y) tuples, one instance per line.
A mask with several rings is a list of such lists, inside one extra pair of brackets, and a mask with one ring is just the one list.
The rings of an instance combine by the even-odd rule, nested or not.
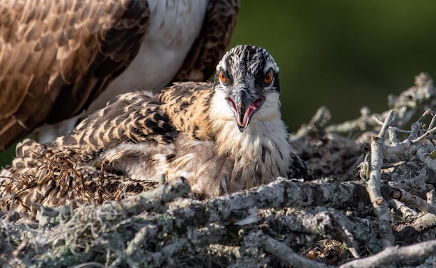
[(267, 50), (238, 45), (229, 50), (217, 65), (215, 97), (228, 104), (240, 132), (247, 129), (255, 114), (271, 118), (279, 113), (279, 67)]

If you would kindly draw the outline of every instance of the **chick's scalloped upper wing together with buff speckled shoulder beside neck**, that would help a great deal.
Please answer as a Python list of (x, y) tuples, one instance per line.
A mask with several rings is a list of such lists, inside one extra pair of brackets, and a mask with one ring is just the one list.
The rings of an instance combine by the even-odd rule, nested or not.
[[(35, 159), (44, 155), (46, 150), (75, 164), (99, 166), (95, 161), (114, 159), (108, 157), (109, 151), (109, 155), (114, 152), (128, 155), (136, 150), (135, 143), (157, 148), (173, 143), (178, 132), (192, 136), (198, 129), (205, 128), (201, 125), (205, 120), (198, 115), (206, 113), (197, 111), (208, 109), (208, 105), (202, 106), (196, 102), (208, 99), (205, 96), (211, 91), (211, 86), (210, 83), (178, 83), (162, 90), (159, 99), (151, 93), (140, 91), (118, 95), (106, 107), (92, 113), (53, 143), (40, 145), (29, 140), (19, 143), (13, 166), (17, 170), (38, 166)], [(166, 150), (166, 147), (163, 146), (162, 150)], [(156, 150), (154, 153), (158, 152)]]

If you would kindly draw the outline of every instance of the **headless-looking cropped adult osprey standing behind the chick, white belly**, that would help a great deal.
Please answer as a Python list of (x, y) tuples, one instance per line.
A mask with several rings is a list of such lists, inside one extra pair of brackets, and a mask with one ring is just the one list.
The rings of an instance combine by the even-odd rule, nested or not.
[[(0, 151), (119, 93), (208, 79), (238, 8), (239, 0), (0, 0)], [(76, 122), (44, 127), (40, 138)]]

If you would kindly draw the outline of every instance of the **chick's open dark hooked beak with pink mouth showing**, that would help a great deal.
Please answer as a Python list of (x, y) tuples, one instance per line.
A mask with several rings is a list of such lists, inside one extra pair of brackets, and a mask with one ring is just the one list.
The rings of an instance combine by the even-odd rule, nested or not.
[(248, 127), (251, 117), (265, 102), (265, 97), (251, 95), (247, 88), (240, 88), (235, 94), (226, 97), (226, 101), (233, 113), (235, 113), (240, 132), (244, 132)]

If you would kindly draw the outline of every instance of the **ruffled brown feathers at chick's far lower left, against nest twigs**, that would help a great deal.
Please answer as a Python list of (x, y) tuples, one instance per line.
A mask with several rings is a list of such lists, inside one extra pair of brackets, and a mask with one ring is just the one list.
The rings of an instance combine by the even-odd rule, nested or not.
[[(0, 175), (0, 209), (32, 212), (33, 204), (57, 207), (70, 203), (102, 203), (155, 187), (157, 182), (132, 180), (123, 175), (80, 166), (66, 157), (26, 139), (17, 148), (13, 168)], [(20, 150), (20, 152), (18, 151)]]

